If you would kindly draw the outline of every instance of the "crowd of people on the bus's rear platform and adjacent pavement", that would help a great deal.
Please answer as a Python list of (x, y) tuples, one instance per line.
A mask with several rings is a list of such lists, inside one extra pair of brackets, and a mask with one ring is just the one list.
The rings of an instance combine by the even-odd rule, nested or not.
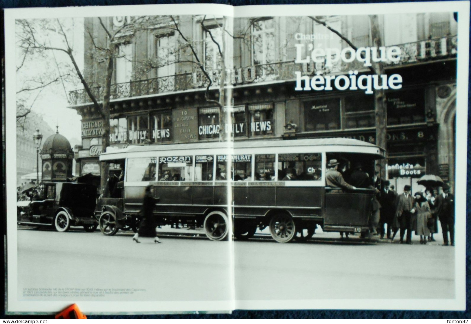
[[(415, 192), (413, 196), (410, 185), (405, 185), (404, 192), (399, 195), (390, 181), (382, 180), (379, 174), (370, 177), (364, 172), (361, 163), (353, 163), (350, 173), (345, 172), (345, 166), (340, 168), (340, 172), (340, 165), (336, 159), (331, 159), (327, 165), (327, 186), (338, 188), (331, 192), (357, 188), (375, 190), (370, 217), (372, 235), (378, 235), (381, 239), (386, 236), (393, 242), (399, 232), (401, 244), (412, 244), (414, 231), (415, 235), (420, 237), (420, 243), (427, 244), (435, 241), (433, 234), (438, 233), (440, 221), (443, 245), (455, 245), (455, 198), (446, 183), (438, 184), (437, 195), (432, 187), (427, 187), (423, 191)], [(344, 174), (349, 175), (347, 181)], [(349, 235), (341, 232), (341, 237), (344, 234), (346, 237)]]

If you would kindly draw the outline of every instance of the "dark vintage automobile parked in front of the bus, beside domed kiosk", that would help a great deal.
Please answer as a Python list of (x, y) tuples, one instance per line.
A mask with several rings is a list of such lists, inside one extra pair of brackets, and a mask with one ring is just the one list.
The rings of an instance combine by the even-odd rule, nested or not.
[(54, 226), (65, 232), (71, 226), (83, 226), (87, 232), (97, 229), (94, 217), (97, 188), (86, 183), (46, 182), (42, 197), (17, 202), (17, 223), (28, 226)]

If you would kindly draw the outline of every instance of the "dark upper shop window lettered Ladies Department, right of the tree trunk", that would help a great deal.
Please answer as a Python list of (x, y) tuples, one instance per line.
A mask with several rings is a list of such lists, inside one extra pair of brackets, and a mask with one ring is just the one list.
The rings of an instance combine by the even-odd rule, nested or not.
[(400, 90), (386, 94), (389, 125), (425, 122), (425, 91), (423, 89)]

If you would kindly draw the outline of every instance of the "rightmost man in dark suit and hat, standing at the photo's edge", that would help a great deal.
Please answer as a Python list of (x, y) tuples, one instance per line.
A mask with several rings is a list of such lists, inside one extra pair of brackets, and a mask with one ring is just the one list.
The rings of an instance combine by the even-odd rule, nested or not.
[(448, 232), (450, 232), (450, 244), (455, 245), (455, 196), (450, 193), (447, 184), (439, 187), (439, 195), (435, 199), (435, 210), (439, 218), (442, 232), (443, 245), (448, 245)]

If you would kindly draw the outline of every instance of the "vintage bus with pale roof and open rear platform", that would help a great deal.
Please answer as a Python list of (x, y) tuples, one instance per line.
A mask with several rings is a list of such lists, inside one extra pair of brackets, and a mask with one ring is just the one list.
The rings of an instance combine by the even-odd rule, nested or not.
[(100, 161), (110, 164), (110, 177), (95, 216), (105, 235), (135, 231), (145, 187), (152, 185), (160, 198), (159, 225), (203, 226), (211, 240), (227, 238), (228, 208), (238, 239), (267, 226), (282, 243), (311, 237), (317, 225), (365, 235), (374, 190), (327, 187), (326, 165), (336, 159), (348, 173), (360, 162), (373, 175), (381, 158), (382, 148), (344, 138), (244, 141), (231, 149), (221, 142), (108, 149)]

